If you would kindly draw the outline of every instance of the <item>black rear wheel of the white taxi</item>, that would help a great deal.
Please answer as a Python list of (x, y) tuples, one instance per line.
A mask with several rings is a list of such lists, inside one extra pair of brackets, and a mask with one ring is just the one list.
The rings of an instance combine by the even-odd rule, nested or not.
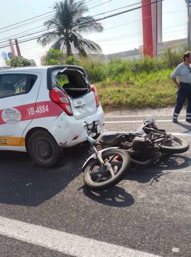
[(32, 160), (41, 167), (53, 167), (63, 155), (63, 149), (46, 130), (35, 131), (29, 138), (28, 151)]

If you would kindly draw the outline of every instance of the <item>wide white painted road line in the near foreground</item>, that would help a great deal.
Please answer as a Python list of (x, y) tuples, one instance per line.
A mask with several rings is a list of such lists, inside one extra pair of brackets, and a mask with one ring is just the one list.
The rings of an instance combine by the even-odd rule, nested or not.
[(161, 257), (2, 216), (0, 234), (76, 257)]

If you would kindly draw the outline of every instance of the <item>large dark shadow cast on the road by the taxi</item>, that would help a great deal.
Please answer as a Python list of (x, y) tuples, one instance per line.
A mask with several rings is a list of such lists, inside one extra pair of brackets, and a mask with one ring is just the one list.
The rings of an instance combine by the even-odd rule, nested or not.
[(37, 166), (28, 153), (1, 151), (0, 203), (38, 206), (54, 197), (80, 175), (88, 149), (86, 143), (67, 148), (63, 160), (53, 168)]

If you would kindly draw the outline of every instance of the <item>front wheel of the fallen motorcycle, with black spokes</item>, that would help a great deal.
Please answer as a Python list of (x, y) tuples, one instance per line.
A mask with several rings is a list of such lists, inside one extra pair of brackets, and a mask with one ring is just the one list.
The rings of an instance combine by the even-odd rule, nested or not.
[(100, 171), (98, 159), (89, 162), (84, 171), (84, 183), (92, 190), (106, 190), (118, 184), (130, 171), (131, 158), (122, 149), (111, 149), (102, 153), (103, 161), (111, 164), (111, 169)]

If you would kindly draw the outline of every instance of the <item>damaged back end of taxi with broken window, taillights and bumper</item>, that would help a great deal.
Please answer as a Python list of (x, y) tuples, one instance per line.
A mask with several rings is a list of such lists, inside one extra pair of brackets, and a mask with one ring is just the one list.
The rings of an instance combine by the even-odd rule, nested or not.
[(97, 138), (103, 129), (104, 113), (95, 86), (79, 66), (51, 67), (47, 70), (50, 99), (63, 112), (56, 118), (49, 132), (60, 147), (71, 147), (86, 141), (87, 129), (95, 121)]

